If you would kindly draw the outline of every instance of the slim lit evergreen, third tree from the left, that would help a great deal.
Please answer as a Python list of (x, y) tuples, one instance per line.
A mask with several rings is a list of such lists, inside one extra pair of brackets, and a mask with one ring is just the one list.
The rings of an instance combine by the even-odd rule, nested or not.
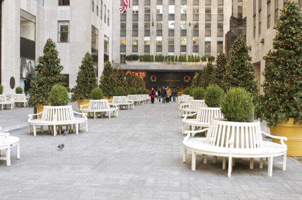
[(100, 79), (100, 88), (103, 91), (104, 96), (111, 97), (115, 95), (116, 80), (111, 66), (111, 62), (107, 61)]

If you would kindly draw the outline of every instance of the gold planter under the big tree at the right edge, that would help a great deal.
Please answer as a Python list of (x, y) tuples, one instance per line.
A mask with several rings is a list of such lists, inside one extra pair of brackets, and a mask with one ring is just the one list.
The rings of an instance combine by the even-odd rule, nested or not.
[[(300, 121), (294, 124), (294, 118), (288, 121), (281, 121), (277, 126), (271, 127), (273, 136), (283, 136), (287, 138), (284, 143), (287, 145), (287, 156), (302, 156), (302, 124)], [(280, 143), (280, 140), (273, 139), (273, 142)]]

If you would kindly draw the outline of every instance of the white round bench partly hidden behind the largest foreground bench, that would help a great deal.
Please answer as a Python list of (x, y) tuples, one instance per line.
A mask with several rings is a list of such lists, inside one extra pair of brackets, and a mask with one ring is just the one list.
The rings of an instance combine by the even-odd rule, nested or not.
[[(196, 116), (196, 118), (188, 119), (188, 117)], [(220, 108), (213, 108), (213, 107), (203, 107), (200, 106), (198, 112), (183, 115), (184, 119), (182, 119), (182, 134), (185, 131), (185, 125), (189, 125), (191, 128), (190, 130), (195, 131), (195, 128), (202, 128), (202, 127), (209, 127), (210, 120), (213, 118), (223, 118), (222, 113), (220, 112)], [(192, 133), (192, 136), (195, 134)]]

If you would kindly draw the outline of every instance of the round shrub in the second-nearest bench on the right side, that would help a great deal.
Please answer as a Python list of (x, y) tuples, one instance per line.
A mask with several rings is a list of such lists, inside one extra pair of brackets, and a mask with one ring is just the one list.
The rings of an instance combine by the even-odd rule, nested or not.
[(205, 93), (204, 100), (209, 107), (219, 107), (223, 97), (223, 90), (218, 85), (210, 85)]

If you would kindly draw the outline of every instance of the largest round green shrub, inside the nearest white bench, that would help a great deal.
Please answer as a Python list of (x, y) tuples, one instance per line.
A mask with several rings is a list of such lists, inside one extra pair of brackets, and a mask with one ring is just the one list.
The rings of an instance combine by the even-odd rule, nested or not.
[(231, 88), (223, 96), (221, 113), (228, 121), (250, 122), (254, 120), (253, 97), (244, 88)]

